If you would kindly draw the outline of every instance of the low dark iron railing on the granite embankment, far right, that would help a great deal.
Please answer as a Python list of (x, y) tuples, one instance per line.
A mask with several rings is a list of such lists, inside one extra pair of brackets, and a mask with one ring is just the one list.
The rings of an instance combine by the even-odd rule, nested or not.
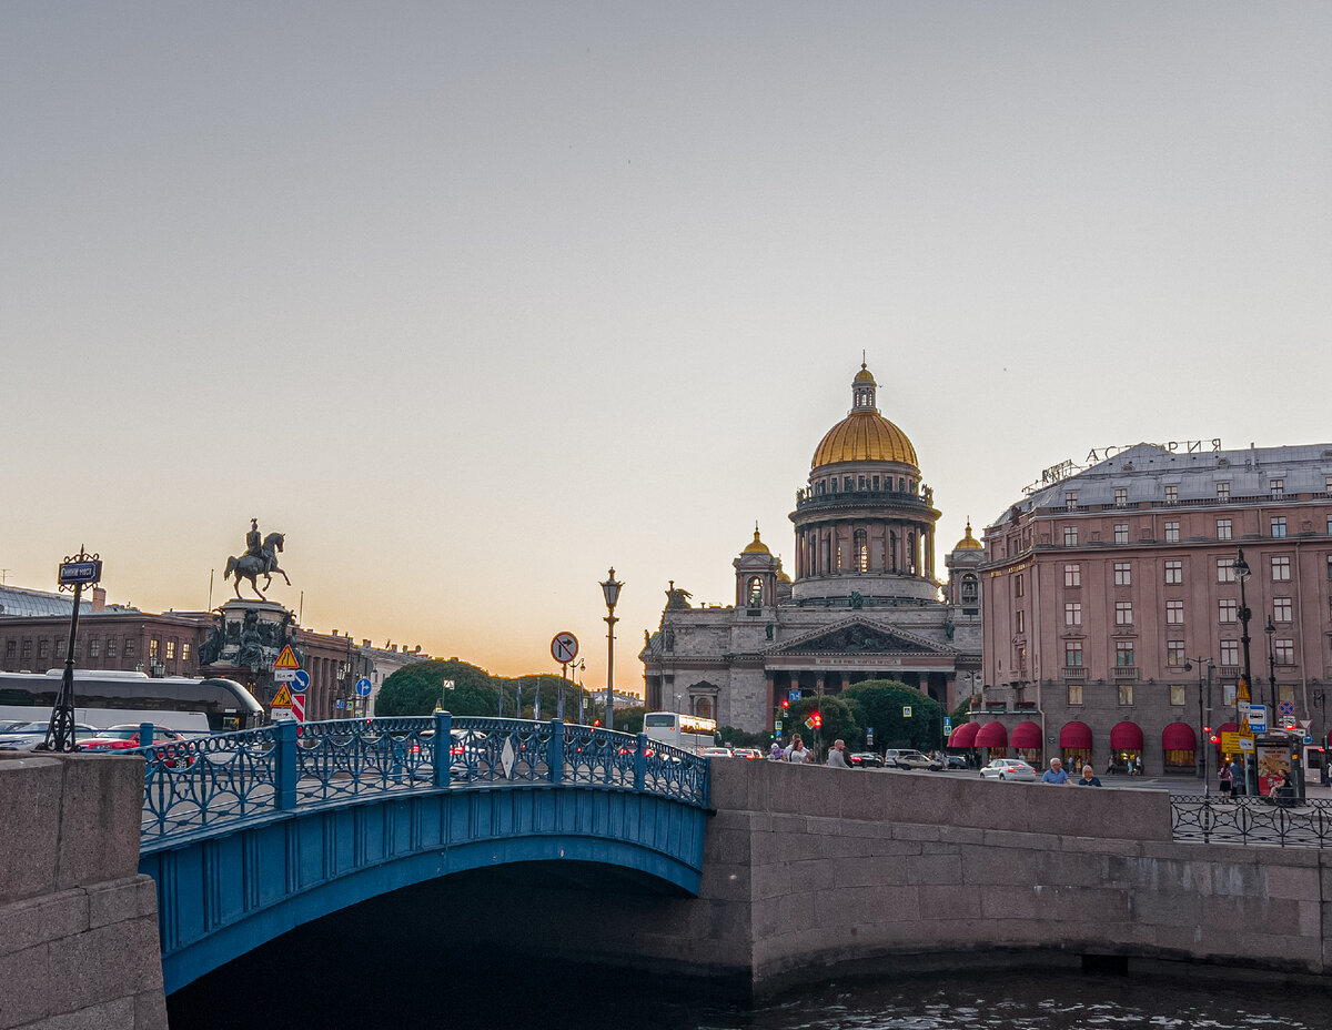
[(1332, 801), (1241, 795), (1181, 795), (1169, 799), (1176, 841), (1332, 847)]

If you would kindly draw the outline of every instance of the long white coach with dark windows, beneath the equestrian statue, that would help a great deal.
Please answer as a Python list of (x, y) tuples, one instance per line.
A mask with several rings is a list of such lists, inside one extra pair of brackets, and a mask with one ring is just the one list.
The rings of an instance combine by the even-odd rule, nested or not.
[[(0, 673), (0, 720), (49, 720), (63, 678), (63, 669)], [(75, 721), (97, 729), (155, 722), (178, 733), (229, 733), (264, 725), (264, 709), (233, 680), (76, 669)]]

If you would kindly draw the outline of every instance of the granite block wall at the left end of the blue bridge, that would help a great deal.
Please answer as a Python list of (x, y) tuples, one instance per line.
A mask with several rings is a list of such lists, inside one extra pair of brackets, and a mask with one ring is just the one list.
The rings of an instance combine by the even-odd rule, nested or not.
[(0, 1030), (165, 1030), (144, 765), (0, 758)]

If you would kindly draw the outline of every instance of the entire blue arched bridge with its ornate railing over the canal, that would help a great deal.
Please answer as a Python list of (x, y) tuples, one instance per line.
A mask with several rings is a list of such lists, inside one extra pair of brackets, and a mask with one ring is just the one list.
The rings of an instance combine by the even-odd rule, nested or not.
[(137, 753), (168, 994), (321, 915), (462, 870), (591, 863), (699, 890), (707, 760), (642, 734), (436, 713)]

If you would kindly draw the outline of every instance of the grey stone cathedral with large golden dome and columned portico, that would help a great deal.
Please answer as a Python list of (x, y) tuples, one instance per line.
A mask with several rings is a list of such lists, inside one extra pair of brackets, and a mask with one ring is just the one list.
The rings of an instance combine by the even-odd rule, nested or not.
[(694, 608), (673, 582), (643, 662), (649, 710), (771, 730), (791, 697), (898, 680), (947, 709), (979, 694), (982, 544), (971, 534), (935, 577), (934, 490), (915, 448), (879, 413), (862, 364), (851, 410), (814, 449), (795, 493), (794, 580), (759, 537), (731, 562), (735, 604)]

